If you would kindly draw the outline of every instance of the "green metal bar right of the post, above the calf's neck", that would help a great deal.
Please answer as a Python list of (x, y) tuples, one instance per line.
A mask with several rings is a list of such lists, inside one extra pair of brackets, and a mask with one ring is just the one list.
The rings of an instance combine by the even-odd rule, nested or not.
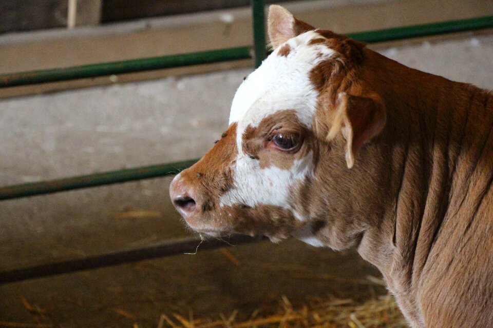
[(348, 34), (348, 36), (362, 42), (375, 43), (429, 35), (473, 31), (487, 28), (493, 28), (493, 16), (449, 20), (448, 22), (441, 23), (351, 33)]

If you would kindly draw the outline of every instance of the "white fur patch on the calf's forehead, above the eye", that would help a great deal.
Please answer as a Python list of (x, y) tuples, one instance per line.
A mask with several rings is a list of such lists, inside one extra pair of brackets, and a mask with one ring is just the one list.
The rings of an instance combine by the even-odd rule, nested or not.
[[(320, 61), (335, 54), (323, 44), (308, 45), (310, 40), (320, 37), (317, 32), (309, 31), (289, 39), (285, 43), (291, 47), (288, 56), (278, 55), (285, 44), (274, 50), (236, 91), (230, 124), (238, 122), (242, 132), (278, 110), (291, 109), (296, 111), (300, 122), (310, 128), (318, 97), (310, 72)], [(241, 133), (238, 135), (241, 137)]]

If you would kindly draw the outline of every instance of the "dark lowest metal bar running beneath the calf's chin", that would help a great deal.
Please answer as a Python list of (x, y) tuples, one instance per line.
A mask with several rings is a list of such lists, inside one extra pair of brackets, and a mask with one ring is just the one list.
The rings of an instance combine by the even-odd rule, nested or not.
[(228, 238), (227, 242), (219, 239), (210, 239), (204, 240), (202, 243), (200, 243), (200, 240), (196, 238), (167, 240), (144, 248), (118, 251), (102, 255), (88, 256), (81, 259), (66, 260), (36, 265), (34, 267), (3, 271), (0, 272), (0, 284), (110, 267), (112, 265), (148, 260), (164, 256), (195, 253), (196, 251), (200, 252), (203, 250), (211, 250), (230, 245), (251, 243), (263, 239), (264, 238), (262, 237), (252, 238), (249, 236), (233, 236)]

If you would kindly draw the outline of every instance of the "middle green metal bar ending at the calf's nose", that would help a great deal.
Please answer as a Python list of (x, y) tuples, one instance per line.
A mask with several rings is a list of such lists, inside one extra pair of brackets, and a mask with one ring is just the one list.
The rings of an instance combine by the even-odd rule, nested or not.
[(0, 188), (0, 200), (28, 197), (34, 195), (51, 194), (81, 188), (110, 185), (141, 179), (150, 179), (160, 176), (177, 174), (192, 166), (197, 159), (151, 165), (147, 167), (124, 169), (118, 171), (94, 173), (69, 178), (23, 183), (21, 185)]

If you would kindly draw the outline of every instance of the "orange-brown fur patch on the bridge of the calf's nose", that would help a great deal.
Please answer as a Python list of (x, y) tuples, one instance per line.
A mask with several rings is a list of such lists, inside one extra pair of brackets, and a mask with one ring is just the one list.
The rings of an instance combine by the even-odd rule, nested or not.
[(196, 190), (203, 212), (213, 210), (220, 195), (233, 186), (232, 166), (238, 155), (236, 127), (236, 123), (232, 124), (195, 165), (181, 172), (186, 183)]

